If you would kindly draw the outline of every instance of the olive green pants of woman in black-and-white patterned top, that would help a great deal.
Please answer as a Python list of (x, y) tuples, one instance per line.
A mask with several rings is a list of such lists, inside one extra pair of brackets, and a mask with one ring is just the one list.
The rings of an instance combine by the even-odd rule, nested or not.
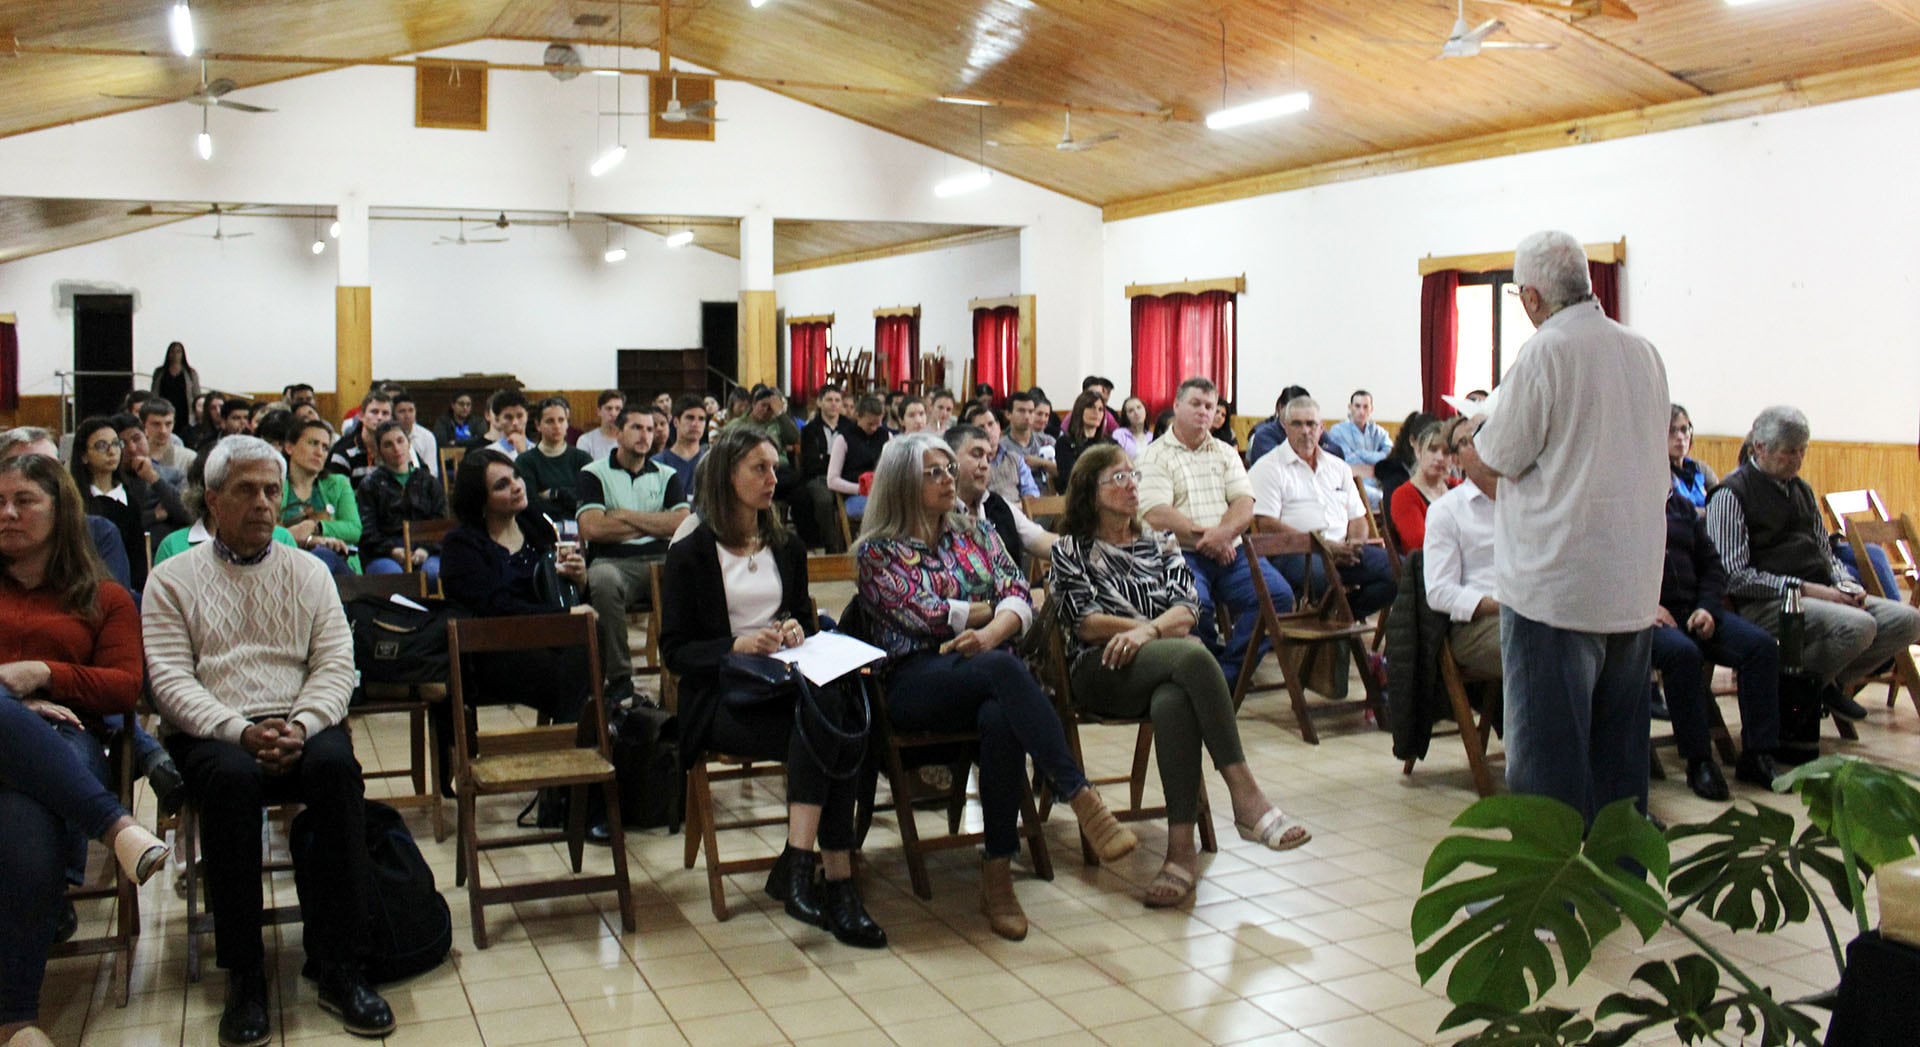
[(1167, 822), (1177, 826), (1200, 820), (1202, 745), (1215, 770), (1246, 759), (1227, 676), (1198, 640), (1150, 640), (1125, 669), (1100, 665), (1098, 647), (1083, 653), (1073, 663), (1073, 703), (1096, 717), (1152, 718)]

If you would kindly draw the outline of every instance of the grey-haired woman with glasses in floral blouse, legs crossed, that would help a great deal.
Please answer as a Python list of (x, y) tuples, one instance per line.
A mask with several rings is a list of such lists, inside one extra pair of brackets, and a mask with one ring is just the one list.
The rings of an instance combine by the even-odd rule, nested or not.
[(887, 444), (860, 540), (860, 609), (889, 655), (887, 715), (902, 730), (979, 730), (987, 836), (981, 913), (1000, 937), (1027, 936), (1008, 861), (1033, 757), (1102, 861), (1139, 840), (1068, 751), (1060, 717), (1010, 642), (1033, 624), (1027, 580), (993, 526), (954, 513), (954, 455), (927, 434)]

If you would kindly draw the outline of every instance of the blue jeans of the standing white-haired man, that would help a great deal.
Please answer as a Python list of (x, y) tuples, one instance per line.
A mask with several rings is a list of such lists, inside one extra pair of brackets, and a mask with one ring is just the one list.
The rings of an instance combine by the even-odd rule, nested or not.
[(1500, 609), (1507, 788), (1549, 795), (1592, 824), (1636, 797), (1647, 809), (1651, 630), (1576, 632)]

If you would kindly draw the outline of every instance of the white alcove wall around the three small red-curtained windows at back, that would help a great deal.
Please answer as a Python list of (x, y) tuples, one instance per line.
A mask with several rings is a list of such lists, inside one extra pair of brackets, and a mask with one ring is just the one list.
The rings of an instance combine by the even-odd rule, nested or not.
[(833, 313), (833, 346), (874, 348), (874, 309), (920, 305), (920, 352), (947, 352), (958, 384), (973, 355), (970, 298), (1000, 298), (1020, 288), (1020, 238), (920, 252), (774, 279), (789, 317)]

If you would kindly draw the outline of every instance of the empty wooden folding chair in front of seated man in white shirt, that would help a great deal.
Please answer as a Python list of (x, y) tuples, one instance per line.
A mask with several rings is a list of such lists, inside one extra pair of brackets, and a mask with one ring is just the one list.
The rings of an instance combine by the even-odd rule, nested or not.
[[(1248, 572), (1254, 578), (1254, 613), (1258, 621), (1254, 622), (1254, 634), (1246, 645), (1246, 657), (1240, 663), (1240, 676), (1233, 686), (1233, 707), (1238, 709), (1246, 695), (1252, 692), (1277, 690), (1275, 686), (1252, 688), (1254, 669), (1260, 665), (1260, 645), (1265, 640), (1273, 642), (1273, 659), (1281, 667), (1281, 678), (1286, 686), (1286, 695), (1292, 701), (1294, 720), (1300, 724), (1300, 738), (1309, 745), (1319, 745), (1319, 732), (1313, 728), (1313, 711), (1308, 709), (1306, 697), (1306, 670), (1311, 659), (1321, 655), (1325, 647), (1346, 647), (1354, 657), (1354, 667), (1359, 669), (1359, 678), (1367, 688), (1365, 701), (1342, 703), (1342, 705), (1323, 705), (1321, 711), (1340, 711), (1348, 713), (1354, 709), (1367, 709), (1373, 713), (1375, 722), (1380, 730), (1386, 730), (1386, 701), (1380, 695), (1380, 682), (1373, 676), (1373, 669), (1367, 665), (1367, 634), (1371, 626), (1354, 621), (1354, 607), (1346, 601), (1346, 586), (1340, 584), (1340, 571), (1334, 567), (1332, 551), (1327, 549), (1327, 542), (1319, 534), (1260, 534), (1248, 532), (1242, 542), (1248, 544)], [(1273, 594), (1267, 590), (1267, 578), (1260, 571), (1260, 561), (1277, 555), (1298, 555), (1306, 553), (1309, 557), (1306, 576), (1313, 576), (1311, 559), (1319, 559), (1327, 578), (1327, 592), (1317, 597), (1311, 592), (1294, 594), (1294, 611), (1281, 615), (1273, 609)], [(1309, 586), (1302, 586), (1308, 590)], [(1294, 651), (1298, 649), (1298, 663), (1294, 661)], [(1338, 655), (1334, 655), (1338, 657)]]

